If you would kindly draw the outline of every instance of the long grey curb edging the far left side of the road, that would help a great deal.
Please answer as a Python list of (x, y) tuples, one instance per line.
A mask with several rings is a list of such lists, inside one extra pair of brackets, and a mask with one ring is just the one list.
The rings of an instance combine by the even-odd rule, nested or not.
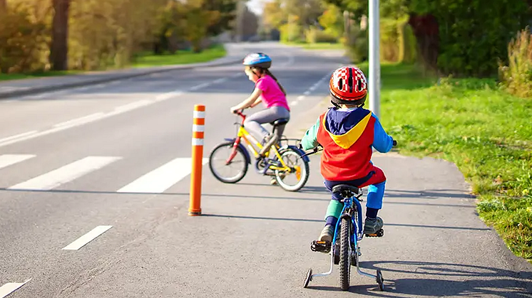
[(131, 73), (131, 74), (123, 74), (123, 75), (116, 75), (111, 78), (100, 78), (100, 79), (93, 79), (93, 80), (86, 80), (83, 82), (75, 82), (75, 83), (64, 83), (64, 84), (58, 84), (58, 85), (47, 85), (47, 86), (39, 86), (39, 87), (29, 87), (24, 90), (13, 90), (8, 92), (0, 92), (0, 100), (9, 98), (9, 97), (17, 97), (17, 96), (24, 96), (24, 95), (32, 95), (36, 93), (42, 93), (42, 92), (48, 92), (48, 91), (57, 91), (57, 90), (66, 90), (76, 87), (84, 87), (89, 85), (98, 85), (101, 83), (108, 83), (113, 82), (116, 80), (126, 80), (130, 78), (136, 78), (141, 77), (143, 75), (152, 75), (153, 73), (164, 73), (167, 71), (172, 70), (186, 70), (186, 69), (193, 69), (193, 68), (201, 68), (205, 66), (223, 66), (223, 65), (231, 65), (235, 63), (239, 63), (242, 61), (242, 58), (235, 58), (234, 60), (229, 60), (225, 62), (220, 63), (205, 63), (205, 64), (190, 64), (190, 65), (178, 65), (175, 67), (169, 67), (169, 68), (160, 68), (160, 69), (154, 69), (154, 70), (146, 70), (140, 73)]

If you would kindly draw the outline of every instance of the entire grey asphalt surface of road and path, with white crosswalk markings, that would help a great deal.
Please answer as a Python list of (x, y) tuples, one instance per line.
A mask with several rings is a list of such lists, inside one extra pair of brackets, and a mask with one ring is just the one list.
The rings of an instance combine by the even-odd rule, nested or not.
[[(272, 55), (287, 134), (301, 137), (344, 58), (242, 47)], [(302, 288), (309, 267), (328, 267), (309, 249), (329, 200), (319, 156), (298, 193), (252, 169), (222, 184), (205, 165), (203, 216), (189, 217), (193, 106), (206, 106), (207, 157), (235, 134), (229, 108), (252, 87), (229, 65), (0, 100), (0, 297), (532, 297), (531, 266), (479, 220), (445, 161), (374, 157), (389, 179), (386, 232), (362, 241), (361, 260), (386, 292), (354, 272), (341, 292), (336, 267)]]

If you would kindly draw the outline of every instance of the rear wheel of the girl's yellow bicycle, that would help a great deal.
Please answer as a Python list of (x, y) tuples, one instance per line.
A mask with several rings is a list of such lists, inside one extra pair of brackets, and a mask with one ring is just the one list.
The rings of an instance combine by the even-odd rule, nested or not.
[(279, 152), (282, 161), (294, 171), (275, 170), (275, 180), (285, 191), (299, 191), (309, 179), (309, 163), (301, 158), (299, 152), (285, 149)]

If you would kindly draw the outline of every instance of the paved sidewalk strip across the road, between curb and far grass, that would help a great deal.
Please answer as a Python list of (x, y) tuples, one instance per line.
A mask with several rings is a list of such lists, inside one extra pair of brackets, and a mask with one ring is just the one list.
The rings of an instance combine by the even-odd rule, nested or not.
[(61, 90), (86, 85), (96, 85), (108, 83), (113, 80), (124, 80), (141, 75), (152, 73), (162, 73), (170, 70), (182, 70), (200, 68), (205, 66), (221, 66), (239, 63), (245, 55), (245, 48), (237, 46), (236, 43), (226, 43), (227, 55), (206, 63), (190, 63), (183, 65), (166, 65), (153, 68), (127, 68), (123, 70), (95, 71), (79, 75), (61, 75), (48, 78), (32, 78), (21, 80), (8, 80), (0, 82), (0, 99), (30, 95), (51, 90)]

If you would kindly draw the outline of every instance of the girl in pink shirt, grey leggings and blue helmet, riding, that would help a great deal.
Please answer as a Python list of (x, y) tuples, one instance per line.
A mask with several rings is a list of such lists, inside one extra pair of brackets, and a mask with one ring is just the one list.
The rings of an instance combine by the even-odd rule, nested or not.
[(281, 118), (290, 119), (290, 107), (288, 107), (285, 89), (268, 69), (272, 65), (272, 59), (268, 55), (251, 53), (244, 58), (242, 64), (245, 65), (244, 71), (247, 78), (255, 83), (255, 90), (246, 100), (231, 107), (231, 112), (263, 103), (266, 109), (247, 117), (244, 125), (252, 134), (255, 134), (255, 137), (258, 137), (257, 139), (262, 140), (264, 145), (260, 150), (260, 155), (264, 156), (280, 139), (285, 127), (278, 127), (277, 134), (273, 135), (261, 124), (274, 122)]

